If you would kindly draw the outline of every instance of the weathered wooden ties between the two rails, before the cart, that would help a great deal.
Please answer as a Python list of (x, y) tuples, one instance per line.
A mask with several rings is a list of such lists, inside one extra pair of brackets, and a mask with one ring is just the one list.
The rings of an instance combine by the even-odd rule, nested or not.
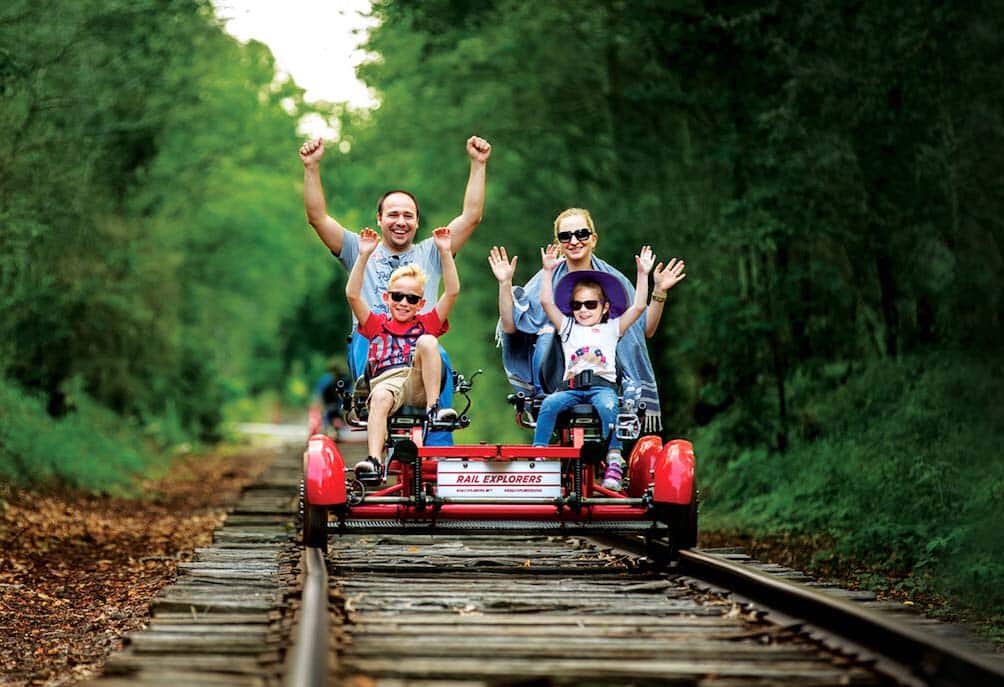
[(338, 682), (881, 684), (756, 611), (588, 541), (358, 537), (329, 559)]

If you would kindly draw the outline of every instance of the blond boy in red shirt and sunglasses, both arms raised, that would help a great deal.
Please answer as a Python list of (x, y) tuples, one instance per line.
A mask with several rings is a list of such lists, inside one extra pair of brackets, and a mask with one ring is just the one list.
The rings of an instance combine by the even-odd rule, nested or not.
[(387, 419), (399, 408), (406, 404), (422, 404), (430, 419), (438, 422), (447, 422), (457, 416), (453, 409), (436, 408), (443, 372), (438, 337), (450, 328), (447, 315), (460, 293), (450, 233), (447, 227), (433, 232), (443, 262), (444, 286), (436, 306), (419, 314), (426, 304), (423, 293), (427, 276), (421, 267), (411, 263), (391, 273), (387, 291), (382, 296), (389, 310), (385, 314), (370, 311), (361, 294), (366, 261), (376, 250), (380, 237), (371, 229), (359, 232), (359, 257), (348, 274), (345, 297), (359, 322), (359, 333), (369, 339), (366, 356), (370, 390), (366, 401), (369, 455), (355, 465), (355, 474), (360, 480), (380, 481), (381, 458), (387, 443)]

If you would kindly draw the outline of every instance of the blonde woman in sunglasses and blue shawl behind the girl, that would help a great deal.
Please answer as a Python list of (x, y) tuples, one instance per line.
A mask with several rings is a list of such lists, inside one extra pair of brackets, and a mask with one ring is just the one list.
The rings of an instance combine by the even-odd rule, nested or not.
[[(619, 270), (597, 258), (593, 251), (599, 241), (596, 227), (587, 210), (569, 208), (554, 220), (554, 239), (564, 260), (554, 269), (552, 283), (556, 284), (568, 272), (580, 269), (594, 269), (613, 274), (628, 290), (629, 297), (635, 297), (635, 287)], [(493, 270), (501, 263), (508, 269), (515, 268), (516, 258), (509, 262), (505, 248), (494, 247), (489, 258)], [(652, 302), (645, 314), (624, 332), (617, 343), (616, 357), (622, 371), (621, 395), (635, 402), (645, 404), (645, 427), (647, 434), (663, 429), (662, 411), (659, 405), (659, 390), (656, 375), (649, 359), (646, 336), (651, 336), (663, 316), (666, 291), (687, 275), (683, 260), (670, 260), (666, 268), (659, 263), (653, 270), (654, 288)], [(537, 272), (525, 286), (509, 290), (501, 285), (500, 298), (512, 298), (512, 320), (499, 320), (496, 335), (502, 347), (502, 365), (509, 383), (517, 392), (535, 395), (540, 392), (538, 380), (539, 356), (543, 354), (554, 336), (551, 325), (540, 304), (541, 272)], [(506, 293), (508, 291), (508, 294)]]

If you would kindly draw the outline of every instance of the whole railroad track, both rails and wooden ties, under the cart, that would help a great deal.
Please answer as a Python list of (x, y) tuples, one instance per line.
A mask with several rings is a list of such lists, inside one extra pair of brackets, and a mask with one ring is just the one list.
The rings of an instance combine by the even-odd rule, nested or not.
[[(294, 453), (247, 492), (155, 604), (153, 635), (95, 684), (1004, 684), (957, 639), (868, 611), (867, 595), (822, 605), (792, 586), (811, 581), (736, 550), (667, 571), (623, 537), (352, 534), (325, 558), (295, 544), (298, 480)], [(213, 602), (223, 591), (231, 606)]]

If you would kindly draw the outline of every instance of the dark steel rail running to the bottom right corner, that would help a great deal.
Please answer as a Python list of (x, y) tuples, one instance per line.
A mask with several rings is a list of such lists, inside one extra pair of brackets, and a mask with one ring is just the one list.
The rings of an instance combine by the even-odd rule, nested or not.
[[(663, 542), (649, 542), (647, 546), (639, 537), (610, 534), (590, 538), (634, 553), (651, 553), (652, 547), (656, 546), (658, 557), (664, 560), (668, 560), (672, 553)], [(712, 583), (866, 647), (910, 669), (929, 685), (998, 687), (1004, 684), (1004, 661), (980, 656), (944, 637), (918, 632), (859, 604), (704, 553), (700, 549), (684, 549), (677, 551), (676, 555), (676, 574)]]

